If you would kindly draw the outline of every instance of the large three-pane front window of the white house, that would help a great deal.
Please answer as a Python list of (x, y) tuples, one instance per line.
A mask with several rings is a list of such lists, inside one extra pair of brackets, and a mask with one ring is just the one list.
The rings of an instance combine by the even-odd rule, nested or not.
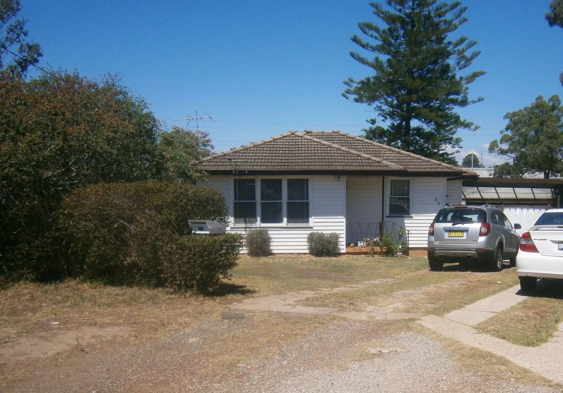
[(309, 225), (309, 179), (234, 179), (235, 225)]

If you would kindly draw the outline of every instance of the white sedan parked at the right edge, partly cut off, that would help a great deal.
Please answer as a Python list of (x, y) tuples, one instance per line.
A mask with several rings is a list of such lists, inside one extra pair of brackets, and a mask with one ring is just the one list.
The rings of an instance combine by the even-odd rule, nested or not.
[(563, 279), (563, 209), (545, 211), (522, 233), (516, 273), (522, 291), (533, 291), (538, 278)]

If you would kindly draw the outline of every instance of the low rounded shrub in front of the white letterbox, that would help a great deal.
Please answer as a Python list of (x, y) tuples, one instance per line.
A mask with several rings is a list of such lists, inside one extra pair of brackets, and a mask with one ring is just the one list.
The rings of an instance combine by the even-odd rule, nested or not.
[(198, 293), (215, 290), (222, 278), (230, 278), (242, 246), (239, 233), (173, 237), (161, 255), (164, 284)]

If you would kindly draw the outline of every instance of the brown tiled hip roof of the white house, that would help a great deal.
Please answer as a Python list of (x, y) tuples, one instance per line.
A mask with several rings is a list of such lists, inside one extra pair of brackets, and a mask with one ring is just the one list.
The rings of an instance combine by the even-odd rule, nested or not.
[(277, 135), (205, 159), (202, 169), (213, 171), (397, 171), (467, 174), (443, 164), (355, 135), (296, 132)]

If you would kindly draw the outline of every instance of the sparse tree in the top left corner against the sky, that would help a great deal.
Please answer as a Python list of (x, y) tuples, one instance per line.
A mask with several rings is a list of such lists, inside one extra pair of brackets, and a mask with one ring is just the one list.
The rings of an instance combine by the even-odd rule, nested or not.
[(20, 10), (19, 0), (0, 0), (0, 70), (23, 78), (43, 53), (38, 43), (26, 42), (25, 20), (16, 19)]

